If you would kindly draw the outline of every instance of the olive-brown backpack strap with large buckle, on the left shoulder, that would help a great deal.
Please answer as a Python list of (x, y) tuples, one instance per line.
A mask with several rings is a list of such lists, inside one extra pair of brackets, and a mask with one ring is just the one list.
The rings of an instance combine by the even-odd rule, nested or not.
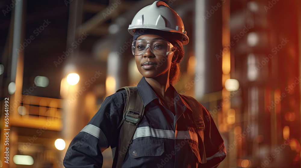
[[(119, 150), (116, 168), (121, 168), (126, 152), (129, 149), (129, 144), (132, 143), (136, 128), (144, 114), (144, 105), (137, 86), (123, 87), (116, 92), (122, 90), (126, 90), (127, 99), (123, 110), (123, 119), (119, 125), (121, 128), (119, 133)], [(116, 148), (112, 149), (113, 157), (115, 156), (115, 150)]]

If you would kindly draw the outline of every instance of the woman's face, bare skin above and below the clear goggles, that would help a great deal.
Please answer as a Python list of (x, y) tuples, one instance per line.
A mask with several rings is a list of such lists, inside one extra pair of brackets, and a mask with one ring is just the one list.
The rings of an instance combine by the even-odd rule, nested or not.
[[(164, 40), (158, 35), (141, 35), (137, 40)], [(137, 47), (137, 46), (136, 46)], [(172, 57), (174, 52), (169, 55), (160, 56), (151, 52), (150, 48), (147, 48), (143, 55), (135, 55), (135, 60), (139, 72), (145, 78), (154, 78), (162, 74), (169, 75), (169, 69), (172, 64)]]

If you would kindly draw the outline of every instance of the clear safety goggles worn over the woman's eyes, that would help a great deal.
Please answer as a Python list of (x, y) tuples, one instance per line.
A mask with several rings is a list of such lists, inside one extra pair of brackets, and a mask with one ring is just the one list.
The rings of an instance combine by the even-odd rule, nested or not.
[(133, 55), (143, 55), (149, 48), (154, 55), (165, 56), (175, 51), (175, 47), (164, 40), (135, 40), (132, 43)]

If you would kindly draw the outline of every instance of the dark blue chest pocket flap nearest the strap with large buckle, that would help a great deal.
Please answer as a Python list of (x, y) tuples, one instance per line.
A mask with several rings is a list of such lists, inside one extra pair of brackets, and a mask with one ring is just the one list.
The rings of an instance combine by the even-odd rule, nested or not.
[(160, 156), (164, 152), (164, 140), (143, 140), (133, 142), (129, 147), (132, 158), (145, 156)]

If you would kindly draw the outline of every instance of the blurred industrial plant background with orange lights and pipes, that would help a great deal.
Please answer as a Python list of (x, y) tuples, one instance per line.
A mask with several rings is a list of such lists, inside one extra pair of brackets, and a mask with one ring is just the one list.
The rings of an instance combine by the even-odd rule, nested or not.
[[(127, 28), (154, 1), (0, 1), (0, 167), (64, 167), (104, 98), (140, 81)], [(300, 168), (301, 1), (163, 1), (190, 38), (174, 87), (213, 116), (219, 168)]]

